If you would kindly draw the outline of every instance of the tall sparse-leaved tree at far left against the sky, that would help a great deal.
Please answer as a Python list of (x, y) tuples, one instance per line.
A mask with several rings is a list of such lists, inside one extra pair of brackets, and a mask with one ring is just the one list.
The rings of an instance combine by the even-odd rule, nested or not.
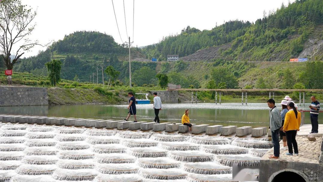
[[(26, 51), (35, 45), (43, 46), (38, 44), (37, 40), (32, 41), (28, 38), (36, 26), (32, 21), (37, 12), (26, 6), (21, 5), (20, 0), (0, 1), (0, 54), (8, 70), (12, 70), (14, 64), (20, 62), (17, 60)], [(13, 49), (17, 51), (10, 58)]]

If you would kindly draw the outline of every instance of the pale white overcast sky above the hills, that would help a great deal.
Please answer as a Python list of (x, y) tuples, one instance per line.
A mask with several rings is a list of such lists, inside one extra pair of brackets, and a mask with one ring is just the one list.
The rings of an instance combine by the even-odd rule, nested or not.
[[(295, 0), (290, 0), (293, 1)], [(120, 44), (130, 37), (134, 42), (133, 46), (138, 47), (158, 43), (162, 37), (179, 34), (188, 25), (209, 30), (229, 20), (255, 22), (263, 17), (264, 10), (268, 15), (269, 11), (280, 8), (282, 3), (288, 4), (288, 0), (124, 0), (125, 21), (123, 1), (114, 0), (120, 38), (111, 0), (21, 2), (37, 10), (34, 19), (36, 28), (30, 39), (38, 40), (41, 44), (63, 39), (65, 35), (75, 31), (87, 30), (109, 34)], [(24, 57), (35, 56), (38, 51), (45, 49), (46, 47), (35, 46)]]

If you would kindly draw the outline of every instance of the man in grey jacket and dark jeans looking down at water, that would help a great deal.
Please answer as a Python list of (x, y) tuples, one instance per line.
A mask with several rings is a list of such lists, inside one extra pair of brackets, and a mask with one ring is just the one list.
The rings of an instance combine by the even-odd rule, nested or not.
[(280, 148), (279, 148), (279, 130), (282, 129), (282, 118), (278, 108), (275, 106), (274, 99), (269, 99), (267, 101), (268, 107), (270, 110), (270, 130), (271, 130), (271, 140), (274, 145), (274, 155), (269, 158), (278, 159)]

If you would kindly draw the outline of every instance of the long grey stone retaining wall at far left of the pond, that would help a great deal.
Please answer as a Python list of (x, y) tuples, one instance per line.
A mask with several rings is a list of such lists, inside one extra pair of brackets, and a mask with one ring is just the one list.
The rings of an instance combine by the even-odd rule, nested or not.
[(0, 86), (0, 106), (48, 105), (47, 88)]

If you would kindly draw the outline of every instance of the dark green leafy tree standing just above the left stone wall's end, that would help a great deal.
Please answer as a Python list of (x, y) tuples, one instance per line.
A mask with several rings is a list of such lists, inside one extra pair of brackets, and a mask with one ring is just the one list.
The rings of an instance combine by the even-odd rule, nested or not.
[(49, 71), (47, 79), (50, 84), (56, 86), (56, 84), (61, 80), (60, 71), (62, 69), (62, 62), (60, 60), (53, 59), (45, 64), (47, 70)]

